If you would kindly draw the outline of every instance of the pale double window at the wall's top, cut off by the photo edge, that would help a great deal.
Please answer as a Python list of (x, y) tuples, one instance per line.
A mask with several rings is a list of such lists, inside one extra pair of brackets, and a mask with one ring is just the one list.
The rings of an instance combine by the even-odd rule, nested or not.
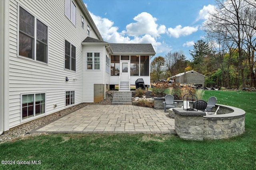
[(76, 6), (72, 0), (65, 0), (65, 15), (76, 26)]

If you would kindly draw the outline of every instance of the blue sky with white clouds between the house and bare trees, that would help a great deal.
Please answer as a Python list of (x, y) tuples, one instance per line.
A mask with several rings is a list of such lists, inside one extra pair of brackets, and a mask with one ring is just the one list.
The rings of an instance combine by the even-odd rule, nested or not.
[[(156, 55), (189, 50), (204, 39), (214, 0), (83, 0), (104, 41), (151, 43)], [(154, 58), (153, 57), (153, 58)]]

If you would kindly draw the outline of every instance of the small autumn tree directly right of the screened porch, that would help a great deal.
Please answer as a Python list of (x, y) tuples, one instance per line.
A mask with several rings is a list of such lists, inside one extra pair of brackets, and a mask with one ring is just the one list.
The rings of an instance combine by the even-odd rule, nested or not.
[(163, 66), (165, 64), (165, 59), (162, 56), (154, 58), (151, 62), (151, 72), (156, 75), (156, 79), (159, 81), (163, 73)]

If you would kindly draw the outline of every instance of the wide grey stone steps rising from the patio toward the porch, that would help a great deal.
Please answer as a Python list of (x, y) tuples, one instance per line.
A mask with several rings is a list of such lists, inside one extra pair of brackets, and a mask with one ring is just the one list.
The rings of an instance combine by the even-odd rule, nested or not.
[(132, 105), (132, 92), (114, 92), (112, 105)]

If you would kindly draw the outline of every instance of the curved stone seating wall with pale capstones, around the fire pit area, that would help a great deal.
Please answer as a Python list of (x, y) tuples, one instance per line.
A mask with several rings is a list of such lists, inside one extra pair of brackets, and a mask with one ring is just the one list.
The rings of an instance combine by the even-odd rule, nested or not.
[[(220, 106), (220, 109), (217, 115), (205, 115), (202, 111), (193, 114), (191, 111), (174, 108), (175, 130), (177, 134), (182, 139), (212, 140), (228, 139), (244, 133), (245, 111), (232, 106), (218, 106)], [(216, 110), (216, 108), (213, 108), (213, 111), (214, 109)]]

